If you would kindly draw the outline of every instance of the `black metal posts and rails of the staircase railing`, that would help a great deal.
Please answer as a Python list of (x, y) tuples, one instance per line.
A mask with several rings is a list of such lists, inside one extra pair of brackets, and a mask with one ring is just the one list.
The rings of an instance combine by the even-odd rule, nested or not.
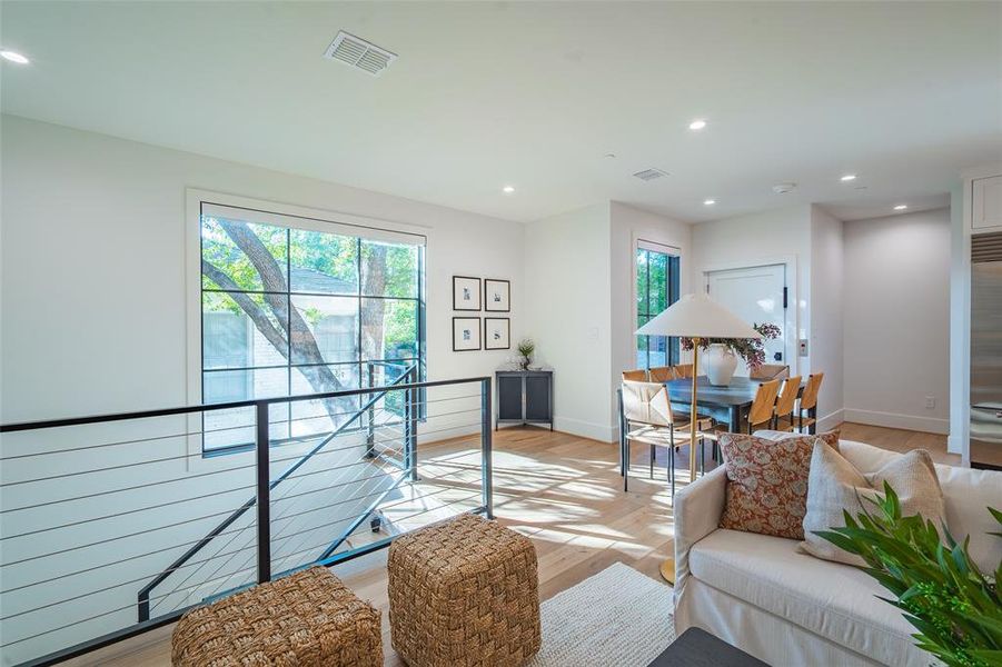
[[(75, 427), (75, 426), (83, 426), (83, 425), (95, 425), (95, 424), (110, 424), (110, 422), (119, 422), (119, 421), (128, 421), (128, 420), (139, 420), (139, 419), (150, 419), (157, 417), (170, 417), (170, 416), (183, 416), (183, 415), (192, 415), (192, 414), (201, 414), (207, 411), (216, 411), (216, 410), (232, 410), (238, 408), (255, 408), (256, 410), (256, 438), (255, 438), (255, 464), (256, 468), (256, 484), (257, 492), (254, 498), (246, 501), (239, 508), (234, 510), (231, 515), (225, 519), (220, 526), (210, 531), (206, 538), (198, 540), (194, 545), (192, 548), (188, 549), (188, 551), (179, 559), (177, 559), (169, 568), (167, 568), (160, 575), (157, 575), (153, 580), (151, 580), (139, 595), (139, 614), (140, 621), (136, 623), (131, 626), (127, 626), (125, 628), (110, 631), (106, 635), (101, 635), (99, 637), (86, 640), (81, 644), (77, 644), (75, 646), (70, 646), (68, 648), (59, 649), (48, 655), (30, 659), (27, 663), (23, 663), (21, 667), (40, 667), (54, 665), (57, 663), (70, 659), (76, 656), (80, 656), (87, 654), (92, 650), (97, 650), (99, 648), (112, 645), (115, 643), (121, 641), (129, 637), (133, 637), (140, 635), (142, 633), (149, 631), (151, 629), (162, 627), (163, 625), (176, 621), (180, 616), (196, 607), (197, 605), (187, 605), (182, 608), (173, 609), (167, 614), (160, 615), (156, 618), (150, 619), (149, 614), (149, 594), (158, 584), (162, 583), (166, 579), (166, 576), (169, 576), (170, 573), (176, 571), (178, 567), (181, 567), (185, 561), (189, 560), (191, 556), (197, 552), (200, 548), (202, 548), (206, 544), (211, 541), (214, 537), (217, 537), (220, 532), (226, 530), (227, 527), (231, 526), (234, 521), (236, 521), (240, 516), (242, 516), (248, 509), (251, 507), (257, 508), (257, 581), (265, 583), (272, 578), (271, 573), (271, 544), (270, 544), (270, 491), (276, 487), (276, 485), (280, 484), (281, 480), (289, 478), (297, 469), (299, 469), (310, 457), (320, 452), (325, 446), (327, 446), (334, 438), (338, 435), (345, 432), (345, 430), (353, 424), (355, 424), (361, 415), (366, 414), (370, 410), (375, 404), (377, 404), (381, 398), (384, 398), (389, 391), (405, 391), (408, 397), (404, 402), (405, 415), (403, 417), (404, 424), (404, 439), (405, 439), (405, 448), (404, 456), (406, 465), (403, 466), (403, 472), (405, 475), (409, 475), (411, 479), (417, 479), (417, 466), (416, 466), (416, 444), (417, 444), (417, 422), (419, 411), (414, 404), (415, 396), (423, 396), (425, 391), (435, 387), (446, 387), (446, 386), (458, 386), (458, 385), (469, 385), (475, 384), (480, 387), (479, 397), (480, 397), (480, 406), (479, 406), (479, 422), (480, 422), (480, 448), (482, 448), (482, 501), (479, 507), (474, 508), (472, 511), (477, 511), (485, 514), (489, 518), (493, 518), (493, 488), (492, 488), (492, 380), (488, 377), (470, 377), (470, 378), (460, 378), (460, 379), (450, 379), (450, 380), (435, 380), (435, 381), (406, 381), (413, 380), (416, 375), (416, 366), (408, 367), (400, 377), (396, 378), (388, 385), (381, 387), (366, 387), (359, 389), (344, 389), (337, 391), (328, 391), (323, 394), (310, 394), (310, 395), (297, 395), (291, 397), (274, 397), (266, 399), (249, 399), (249, 400), (240, 400), (240, 401), (230, 401), (226, 404), (209, 404), (209, 405), (197, 405), (197, 406), (181, 406), (176, 408), (165, 408), (165, 409), (155, 409), (155, 410), (139, 410), (139, 411), (130, 411), (130, 412), (117, 412), (117, 414), (108, 414), (108, 415), (96, 415), (96, 416), (85, 416), (85, 417), (69, 417), (61, 419), (49, 419), (49, 420), (39, 420), (39, 421), (22, 421), (22, 422), (13, 422), (13, 424), (4, 424), (0, 425), (0, 434), (13, 434), (13, 432), (23, 432), (23, 431), (41, 431), (43, 429), (54, 429), (54, 428), (65, 428), (65, 427)], [(270, 477), (270, 459), (269, 459), (269, 447), (270, 447), (270, 435), (269, 435), (269, 407), (272, 405), (282, 405), (282, 404), (292, 404), (297, 401), (317, 401), (317, 400), (326, 400), (326, 399), (337, 399), (337, 398), (347, 398), (347, 397), (370, 397), (364, 405), (361, 405), (357, 410), (353, 412), (347, 412), (350, 415), (349, 419), (338, 426), (331, 434), (324, 437), (320, 444), (310, 449), (309, 452), (305, 454), (301, 458), (296, 460), (294, 465), (291, 465), (287, 470), (285, 470), (278, 478), (275, 480), (269, 479)], [(448, 400), (448, 399), (445, 399)], [(385, 408), (384, 408), (385, 409)], [(423, 415), (423, 412), (420, 412)], [(420, 417), (421, 420), (425, 417)], [(400, 424), (400, 421), (395, 421), (394, 424)], [(462, 428), (466, 426), (473, 425), (462, 425)], [(435, 431), (431, 431), (435, 432)], [(195, 435), (195, 434), (182, 434), (182, 435)], [(136, 440), (137, 442), (141, 440)], [(128, 442), (123, 442), (128, 444)], [(409, 445), (408, 445), (409, 444)], [(112, 444), (115, 445), (115, 444)], [(34, 455), (44, 455), (48, 454), (46, 451), (34, 452), (32, 455), (23, 455), (23, 456), (34, 456)], [(30, 480), (29, 480), (30, 481)], [(370, 505), (368, 510), (369, 514), (373, 511), (373, 506)], [(366, 554), (373, 552), (375, 550), (385, 548), (390, 544), (394, 539), (393, 536), (384, 538), (381, 540), (377, 540), (365, 546), (351, 549), (349, 552), (339, 552), (333, 554), (333, 550), (328, 547), (323, 551), (323, 555), (311, 561), (308, 565), (299, 566), (294, 568), (292, 570), (287, 570), (282, 573), (278, 573), (275, 576), (285, 576), (295, 569), (299, 569), (300, 567), (308, 567), (309, 565), (323, 565), (330, 566), (336, 563), (340, 563), (344, 560), (348, 560), (351, 558), (357, 558), (359, 556), (364, 556)], [(319, 551), (319, 549), (318, 549)], [(166, 575), (166, 576), (165, 576)], [(112, 610), (115, 611), (115, 610)]]

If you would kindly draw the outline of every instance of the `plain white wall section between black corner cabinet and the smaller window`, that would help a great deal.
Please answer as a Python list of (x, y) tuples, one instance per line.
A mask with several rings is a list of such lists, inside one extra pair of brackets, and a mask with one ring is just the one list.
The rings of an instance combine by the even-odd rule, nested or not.
[(558, 430), (612, 441), (609, 203), (530, 222), (524, 334), (554, 374)]

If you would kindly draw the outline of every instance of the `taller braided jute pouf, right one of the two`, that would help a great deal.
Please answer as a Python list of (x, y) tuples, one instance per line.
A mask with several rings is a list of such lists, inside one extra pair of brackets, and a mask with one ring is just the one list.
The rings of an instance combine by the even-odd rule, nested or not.
[(411, 667), (524, 665), (539, 650), (536, 549), (476, 515), (389, 547), (389, 626)]

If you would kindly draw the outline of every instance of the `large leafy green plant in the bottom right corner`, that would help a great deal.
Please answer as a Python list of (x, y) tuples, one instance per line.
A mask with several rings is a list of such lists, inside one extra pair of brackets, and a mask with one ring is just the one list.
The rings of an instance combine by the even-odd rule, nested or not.
[[(960, 544), (944, 528), (941, 540), (932, 521), (901, 516), (886, 482), (883, 499), (865, 500), (876, 511), (843, 511), (844, 528), (815, 535), (866, 561), (862, 569), (896, 598), (881, 599), (919, 630), (912, 637), (920, 648), (951, 667), (1002, 665), (1002, 563), (993, 576), (983, 574), (968, 554), (970, 538)], [(1002, 512), (988, 509), (1002, 525)]]

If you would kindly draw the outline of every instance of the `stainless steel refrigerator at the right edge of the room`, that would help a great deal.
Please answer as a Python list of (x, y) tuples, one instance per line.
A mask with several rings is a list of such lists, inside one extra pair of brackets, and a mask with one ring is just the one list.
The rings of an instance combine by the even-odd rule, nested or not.
[(971, 239), (971, 465), (1002, 470), (1002, 233)]

